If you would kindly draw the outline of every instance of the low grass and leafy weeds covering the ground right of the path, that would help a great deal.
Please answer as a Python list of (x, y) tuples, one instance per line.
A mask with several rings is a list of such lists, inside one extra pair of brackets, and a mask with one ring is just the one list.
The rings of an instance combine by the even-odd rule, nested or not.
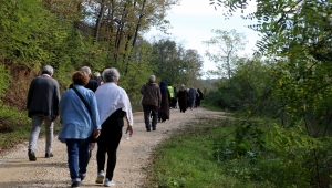
[(329, 169), (317, 171), (314, 153), (323, 159), (330, 143), (270, 118), (201, 117), (154, 149), (146, 187), (326, 187)]

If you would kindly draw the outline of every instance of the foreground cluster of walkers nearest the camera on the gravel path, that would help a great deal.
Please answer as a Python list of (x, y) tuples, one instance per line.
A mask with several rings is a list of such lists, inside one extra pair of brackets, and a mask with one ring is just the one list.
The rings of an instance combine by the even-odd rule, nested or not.
[[(86, 176), (90, 152), (94, 146), (92, 142), (97, 143), (95, 182), (104, 184), (105, 187), (115, 185), (113, 174), (124, 117), (127, 122), (126, 133), (129, 135), (133, 135), (134, 124), (129, 98), (117, 85), (118, 71), (114, 67), (105, 69), (102, 84), (90, 79), (91, 69), (83, 66), (72, 75), (73, 84), (61, 98), (58, 81), (52, 79), (53, 71), (52, 66), (44, 66), (42, 75), (33, 79), (30, 84), (27, 102), (29, 117), (32, 118), (29, 160), (37, 160), (35, 145), (43, 122), (46, 127), (45, 157), (53, 157), (53, 122), (60, 118), (62, 126), (58, 138), (66, 144), (71, 187), (80, 187)], [(104, 173), (106, 155), (107, 166)]]

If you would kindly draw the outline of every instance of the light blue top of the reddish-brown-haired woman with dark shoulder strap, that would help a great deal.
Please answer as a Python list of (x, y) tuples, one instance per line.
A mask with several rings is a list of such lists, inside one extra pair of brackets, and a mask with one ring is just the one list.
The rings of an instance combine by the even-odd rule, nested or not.
[(65, 143), (65, 139), (85, 139), (94, 129), (102, 129), (94, 93), (81, 85), (75, 85), (74, 87), (85, 98), (92, 114), (89, 113), (74, 90), (65, 91), (59, 104), (62, 126), (58, 139), (62, 143)]

